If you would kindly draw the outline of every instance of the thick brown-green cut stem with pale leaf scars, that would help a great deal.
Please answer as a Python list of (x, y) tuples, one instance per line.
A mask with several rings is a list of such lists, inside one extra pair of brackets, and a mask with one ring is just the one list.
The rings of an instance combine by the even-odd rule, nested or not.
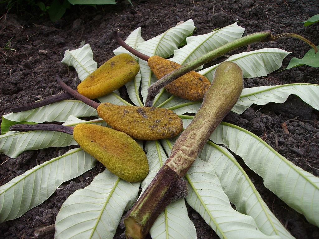
[(124, 220), (126, 237), (145, 238), (165, 207), (187, 195), (182, 177), (224, 116), (233, 108), (243, 88), (242, 71), (233, 62), (221, 63), (189, 126), (174, 143), (170, 157)]

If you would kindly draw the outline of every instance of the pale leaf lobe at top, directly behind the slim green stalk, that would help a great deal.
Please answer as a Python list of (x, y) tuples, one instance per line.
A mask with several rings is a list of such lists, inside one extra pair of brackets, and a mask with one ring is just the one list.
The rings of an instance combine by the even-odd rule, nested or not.
[(187, 37), (187, 45), (175, 50), (170, 60), (184, 65), (228, 42), (241, 38), (244, 31), (245, 29), (235, 22), (211, 33)]

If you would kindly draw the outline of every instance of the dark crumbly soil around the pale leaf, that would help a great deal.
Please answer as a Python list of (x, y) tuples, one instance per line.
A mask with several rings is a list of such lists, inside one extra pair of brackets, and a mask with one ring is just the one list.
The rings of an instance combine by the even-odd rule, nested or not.
[[(0, 47), (11, 40), (10, 48), (0, 48), (0, 113), (10, 112), (14, 105), (31, 103), (61, 92), (56, 83), (57, 74), (68, 78), (71, 85), (76, 78), (74, 69), (61, 63), (64, 51), (78, 48), (81, 41), (89, 43), (94, 60), (100, 66), (113, 56), (118, 47), (111, 37), (111, 30), (118, 29), (123, 38), (142, 27), (142, 36), (148, 40), (173, 27), (180, 21), (192, 18), (197, 30), (195, 34), (211, 32), (239, 20), (245, 27), (244, 34), (271, 29), (273, 34), (298, 33), (318, 45), (318, 24), (304, 27), (304, 21), (319, 13), (317, 0), (132, 0), (116, 5), (72, 6), (61, 20), (51, 22), (48, 16), (39, 17), (41, 12), (16, 11), (5, 14), (0, 6)], [(294, 52), (283, 62), (284, 69), (290, 59), (302, 57), (310, 47), (298, 39), (280, 40), (276, 43), (254, 44), (250, 50), (261, 47), (279, 47)], [(246, 51), (239, 49), (234, 53)], [(267, 77), (245, 79), (245, 87), (286, 83), (315, 83), (319, 81), (318, 69), (300, 66), (271, 73)], [(76, 81), (78, 83), (78, 80)], [(318, 92), (319, 93), (319, 92)], [(290, 96), (283, 104), (270, 103), (253, 105), (241, 115), (230, 112), (224, 119), (244, 127), (262, 137), (281, 155), (296, 165), (319, 176), (319, 113), (296, 96)], [(282, 124), (286, 122), (289, 134)], [(68, 148), (48, 148), (27, 151), (17, 159), (1, 154), (0, 185), (48, 159), (58, 156)], [(77, 189), (84, 188), (93, 177), (103, 170), (98, 164), (84, 175), (63, 183), (55, 194), (41, 205), (31, 209), (22, 217), (0, 225), (0, 239), (35, 238), (37, 228), (55, 222), (64, 200)], [(263, 186), (262, 180), (247, 169), (263, 199), (296, 238), (319, 238), (319, 229), (308, 223), (304, 216), (286, 206), (272, 192)], [(195, 211), (189, 208), (189, 216), (197, 228), (198, 238), (218, 238), (214, 231)], [(118, 228), (115, 238), (123, 238), (123, 228)], [(54, 232), (41, 238), (52, 239)]]

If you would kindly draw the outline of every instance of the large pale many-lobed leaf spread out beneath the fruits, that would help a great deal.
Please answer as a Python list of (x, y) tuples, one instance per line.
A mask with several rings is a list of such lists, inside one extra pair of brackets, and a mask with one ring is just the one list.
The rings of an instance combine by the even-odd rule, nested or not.
[[(171, 61), (186, 65), (203, 55), (203, 52), (210, 52), (241, 39), (244, 33), (244, 29), (234, 23), (207, 34), (188, 37), (187, 44), (178, 48), (180, 42), (189, 36), (194, 28), (193, 21), (188, 20), (147, 41), (141, 36), (141, 28), (137, 28), (125, 42), (141, 53), (170, 57)], [(121, 53), (128, 51), (123, 47), (114, 50), (115, 55)], [(260, 77), (279, 69), (288, 54), (282, 49), (264, 48), (232, 55), (226, 61), (240, 66), (244, 78)], [(94, 61), (88, 45), (67, 51), (63, 62), (74, 66), (82, 80), (96, 69), (90, 68)], [(147, 62), (138, 60), (138, 63), (140, 72), (125, 86), (133, 104), (144, 107), (149, 87), (158, 80)], [(200, 69), (199, 73), (212, 81), (218, 66), (219, 64), (216, 64)], [(231, 111), (241, 114), (252, 104), (282, 103), (291, 94), (298, 95), (319, 110), (318, 91), (319, 85), (301, 83), (243, 89)], [(115, 105), (129, 105), (118, 91), (98, 100)], [(184, 128), (187, 128), (194, 118), (190, 113), (197, 113), (202, 104), (201, 101), (190, 101), (171, 95), (163, 89), (150, 103), (153, 107), (167, 108), (178, 114), (183, 120)], [(39, 109), (10, 113), (2, 117), (2, 124), (5, 124), (6, 128), (21, 121), (56, 121), (72, 127), (80, 123), (106, 126), (106, 123), (98, 118), (94, 108), (78, 100), (63, 100)], [(84, 121), (79, 119), (82, 117), (94, 119)], [(3, 133), (5, 134), (0, 136), (0, 152), (12, 158), (25, 150), (77, 145), (72, 135), (61, 132)], [(150, 166), (147, 177), (142, 182), (129, 183), (104, 170), (94, 177), (89, 186), (74, 192), (63, 203), (56, 217), (55, 238), (113, 238), (122, 214), (136, 202), (140, 187), (142, 193), (145, 192), (174, 151), (175, 142), (178, 142), (178, 137), (137, 141), (141, 146), (145, 145)], [(319, 226), (319, 178), (278, 154), (257, 135), (221, 122), (204, 144), (203, 150), (185, 177), (180, 179), (188, 185), (186, 202), (197, 210), (221, 238), (293, 238), (265, 204), (233, 154), (240, 156), (263, 178), (265, 186), (287, 205), (304, 214), (309, 222)], [(92, 169), (96, 162), (96, 159), (86, 154), (82, 148), (74, 148), (13, 178), (0, 187), (0, 222), (15, 219), (41, 204), (63, 182)], [(177, 198), (174, 198), (173, 193), (170, 200)], [(161, 235), (171, 238), (197, 238), (195, 226), (188, 217), (186, 202), (184, 198), (179, 199), (164, 209), (150, 228), (152, 238), (160, 238)], [(236, 210), (230, 203), (235, 205)]]

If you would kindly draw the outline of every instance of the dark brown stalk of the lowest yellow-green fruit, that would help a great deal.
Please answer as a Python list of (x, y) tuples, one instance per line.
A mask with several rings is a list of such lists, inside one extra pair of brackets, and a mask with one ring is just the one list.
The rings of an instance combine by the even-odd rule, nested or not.
[(35, 125), (29, 125), (29, 124), (17, 124), (12, 125), (9, 128), (10, 131), (32, 131), (32, 130), (49, 130), (49, 131), (56, 131), (56, 132), (62, 132), (66, 134), (73, 135), (73, 127), (71, 126), (64, 126), (64, 125), (54, 125), (54, 124), (35, 124)]

